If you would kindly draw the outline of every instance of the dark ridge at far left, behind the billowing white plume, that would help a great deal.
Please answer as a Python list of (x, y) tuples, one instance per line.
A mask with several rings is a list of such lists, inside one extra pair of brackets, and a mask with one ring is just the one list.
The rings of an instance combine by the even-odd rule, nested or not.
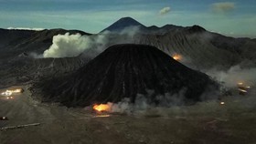
[(79, 30), (45, 29), (42, 31), (32, 30), (9, 30), (0, 28), (0, 65), (22, 53), (42, 54), (52, 45), (52, 37), (57, 35), (77, 34), (90, 36), (91, 34)]

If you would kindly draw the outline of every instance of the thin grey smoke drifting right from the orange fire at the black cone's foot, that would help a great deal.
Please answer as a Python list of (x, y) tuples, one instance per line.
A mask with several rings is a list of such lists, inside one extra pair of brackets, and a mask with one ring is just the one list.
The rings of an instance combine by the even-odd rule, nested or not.
[[(163, 110), (158, 111), (157, 109), (178, 108), (178, 107), (187, 106), (186, 98), (185, 98), (186, 91), (187, 91), (187, 88), (182, 88), (176, 94), (171, 95), (169, 93), (165, 93), (165, 95), (158, 95), (156, 97), (158, 104), (156, 105), (154, 101), (151, 101), (149, 99), (153, 95), (155, 95), (154, 90), (147, 90), (146, 95), (137, 94), (134, 103), (132, 103), (129, 98), (123, 98), (123, 100), (121, 100), (118, 103), (108, 102), (106, 104), (109, 108), (107, 111), (111, 113), (125, 113), (128, 115), (133, 115), (138, 113), (145, 114), (148, 111), (156, 110), (154, 111), (154, 113), (162, 116), (166, 114), (165, 111)], [(208, 91), (206, 91), (201, 95), (201, 98), (204, 98), (202, 100), (216, 102), (218, 96), (219, 96), (219, 92), (217, 92), (216, 89), (215, 91), (208, 89)]]

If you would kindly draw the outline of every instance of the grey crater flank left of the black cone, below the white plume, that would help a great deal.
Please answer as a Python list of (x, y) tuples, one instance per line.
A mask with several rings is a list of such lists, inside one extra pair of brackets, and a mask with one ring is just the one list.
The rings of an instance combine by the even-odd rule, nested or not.
[(34, 83), (41, 78), (68, 75), (88, 63), (83, 57), (32, 58), (18, 57), (12, 63), (2, 65), (0, 88)]

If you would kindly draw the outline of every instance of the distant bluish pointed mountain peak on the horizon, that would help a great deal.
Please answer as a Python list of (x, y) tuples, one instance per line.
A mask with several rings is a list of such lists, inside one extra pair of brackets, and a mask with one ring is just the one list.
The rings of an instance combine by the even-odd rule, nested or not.
[(115, 23), (113, 23), (111, 26), (108, 26), (103, 31), (112, 31), (112, 32), (118, 32), (122, 31), (124, 28), (131, 27), (131, 26), (139, 26), (141, 29), (145, 29), (146, 26), (142, 25), (138, 21), (134, 20), (132, 17), (122, 17)]

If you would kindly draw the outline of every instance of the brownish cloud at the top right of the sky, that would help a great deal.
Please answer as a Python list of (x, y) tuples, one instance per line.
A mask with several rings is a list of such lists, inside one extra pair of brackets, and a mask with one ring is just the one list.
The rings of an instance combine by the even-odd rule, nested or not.
[(212, 9), (214, 12), (227, 13), (236, 8), (235, 3), (232, 2), (221, 2), (212, 4)]

